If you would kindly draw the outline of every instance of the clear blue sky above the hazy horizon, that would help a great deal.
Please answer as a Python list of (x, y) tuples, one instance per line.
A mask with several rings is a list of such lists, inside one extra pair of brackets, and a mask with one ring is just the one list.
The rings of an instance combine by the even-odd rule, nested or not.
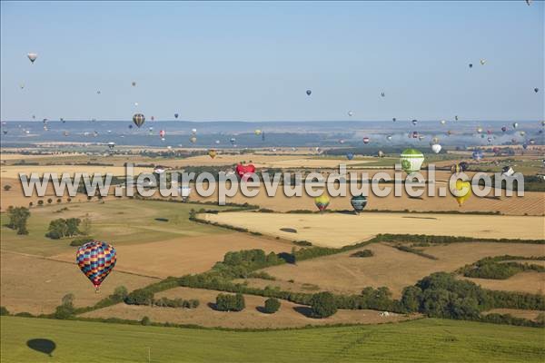
[(523, 0), (2, 1), (0, 117), (542, 120), (544, 19)]

